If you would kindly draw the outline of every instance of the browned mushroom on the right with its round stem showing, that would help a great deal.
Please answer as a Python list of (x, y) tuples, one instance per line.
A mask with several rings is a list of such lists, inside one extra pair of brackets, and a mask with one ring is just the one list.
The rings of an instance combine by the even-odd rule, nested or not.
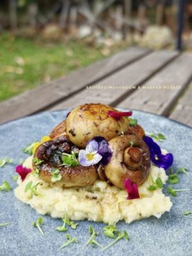
[(118, 136), (109, 141), (113, 155), (105, 166), (109, 181), (117, 188), (124, 188), (125, 179), (141, 185), (147, 179), (150, 168), (148, 147), (134, 134)]

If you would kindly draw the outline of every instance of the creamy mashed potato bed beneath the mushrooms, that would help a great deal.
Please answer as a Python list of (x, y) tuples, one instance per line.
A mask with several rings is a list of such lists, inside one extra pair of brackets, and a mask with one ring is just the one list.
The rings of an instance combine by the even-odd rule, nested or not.
[[(32, 168), (32, 157), (26, 159), (24, 166)], [(168, 177), (163, 168), (152, 165), (148, 179), (139, 187), (140, 198), (127, 200), (127, 192), (109, 186), (105, 181), (97, 180), (92, 186), (84, 188), (59, 188), (49, 186), (31, 173), (24, 182), (18, 180), (19, 186), (15, 189), (15, 196), (22, 202), (31, 205), (39, 214), (51, 214), (53, 218), (63, 218), (65, 212), (70, 220), (103, 221), (112, 224), (120, 220), (131, 223), (134, 220), (161, 215), (170, 211), (172, 202), (165, 196), (162, 189), (149, 191), (152, 179), (160, 177), (165, 184)], [(25, 192), (28, 182), (33, 181), (40, 195), (31, 198), (31, 191)]]

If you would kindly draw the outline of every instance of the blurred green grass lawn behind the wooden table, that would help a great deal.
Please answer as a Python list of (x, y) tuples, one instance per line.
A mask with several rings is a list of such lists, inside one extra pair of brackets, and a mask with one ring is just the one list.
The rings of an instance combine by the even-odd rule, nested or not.
[(84, 42), (47, 43), (8, 32), (0, 36), (0, 45), (0, 101), (105, 58)]

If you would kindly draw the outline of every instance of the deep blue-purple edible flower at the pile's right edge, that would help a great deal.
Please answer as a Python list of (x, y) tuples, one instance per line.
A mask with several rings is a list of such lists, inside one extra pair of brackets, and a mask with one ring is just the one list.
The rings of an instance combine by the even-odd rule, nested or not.
[(152, 163), (156, 164), (158, 167), (162, 167), (165, 170), (168, 169), (173, 164), (173, 155), (172, 154), (166, 154), (163, 155), (161, 153), (161, 148), (159, 145), (157, 145), (152, 138), (145, 136), (143, 138), (145, 143), (148, 146), (148, 149), (150, 151), (150, 160)]

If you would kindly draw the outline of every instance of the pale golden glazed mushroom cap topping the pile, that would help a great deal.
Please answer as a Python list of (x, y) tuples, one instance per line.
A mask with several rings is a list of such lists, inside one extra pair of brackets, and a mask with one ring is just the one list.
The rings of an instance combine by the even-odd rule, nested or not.
[(73, 109), (66, 120), (67, 136), (80, 148), (95, 136), (102, 136), (106, 141), (126, 133), (129, 122), (122, 117), (116, 121), (108, 115), (108, 111), (119, 112), (104, 104), (84, 104)]

